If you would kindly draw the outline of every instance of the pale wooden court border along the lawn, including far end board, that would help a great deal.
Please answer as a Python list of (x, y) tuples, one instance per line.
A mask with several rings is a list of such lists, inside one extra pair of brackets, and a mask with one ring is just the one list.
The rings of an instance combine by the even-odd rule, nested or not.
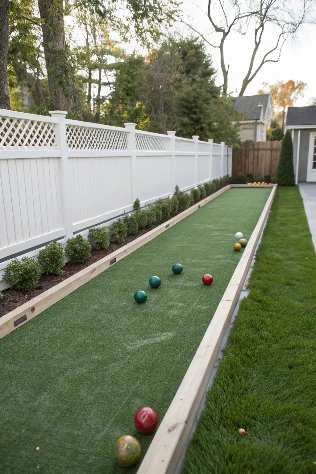
[[(232, 187), (248, 187), (248, 185), (233, 185)], [(270, 185), (270, 187), (273, 189), (258, 223), (137, 474), (174, 474), (177, 468), (181, 455), (189, 442), (191, 429), (207, 390), (223, 337), (243, 288), (265, 219), (271, 208), (277, 185)]]

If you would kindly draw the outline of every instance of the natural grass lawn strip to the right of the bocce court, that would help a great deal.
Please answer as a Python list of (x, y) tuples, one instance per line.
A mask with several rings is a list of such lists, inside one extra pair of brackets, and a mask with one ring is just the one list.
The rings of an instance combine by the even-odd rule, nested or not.
[(277, 190), (248, 286), (182, 474), (316, 473), (316, 254), (297, 186)]

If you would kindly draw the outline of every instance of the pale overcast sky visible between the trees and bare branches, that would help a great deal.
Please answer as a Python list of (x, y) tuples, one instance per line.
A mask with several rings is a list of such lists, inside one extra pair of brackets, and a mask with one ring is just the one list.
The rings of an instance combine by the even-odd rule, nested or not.
[[(182, 18), (187, 23), (190, 23), (202, 34), (208, 35), (210, 31), (210, 22), (205, 13), (207, 6), (207, 0), (183, 0), (182, 3)], [(204, 11), (202, 10), (204, 9)], [(217, 15), (216, 15), (217, 13)], [(215, 13), (215, 17), (219, 15), (219, 11)], [(181, 34), (189, 32), (189, 28), (183, 25), (183, 23), (176, 23), (170, 31), (181, 31)], [(274, 46), (277, 38), (277, 29), (267, 28), (264, 32), (262, 39), (262, 47), (259, 49), (258, 59), (261, 58), (269, 49)], [(208, 40), (212, 44), (219, 44), (220, 35), (213, 33), (207, 36)], [(240, 90), (243, 77), (249, 67), (249, 60), (253, 51), (253, 33), (250, 32), (246, 35), (240, 35), (239, 33), (231, 33), (228, 36), (225, 43), (225, 61), (226, 66), (229, 64), (229, 77), (228, 77), (228, 92), (238, 95)], [(133, 49), (137, 48), (136, 42), (131, 41), (129, 44), (124, 45), (128, 52), (132, 52)], [(138, 47), (140, 51), (141, 48)], [(213, 64), (218, 71), (218, 84), (222, 84), (223, 78), (220, 68), (220, 57), (219, 49), (214, 49), (207, 45), (208, 52), (213, 57)], [(248, 85), (244, 95), (256, 94), (258, 89), (261, 88), (262, 82), (268, 82), (270, 84), (280, 81), (288, 81), (293, 79), (294, 81), (307, 82), (307, 89), (304, 97), (298, 99), (295, 105), (303, 106), (307, 105), (308, 100), (311, 97), (316, 96), (316, 64), (315, 64), (315, 51), (316, 51), (316, 27), (303, 25), (301, 30), (296, 35), (294, 41), (289, 41), (283, 46), (282, 55), (280, 62), (278, 63), (267, 63), (262, 66), (257, 76)], [(145, 53), (142, 51), (142, 53)], [(276, 59), (278, 55), (271, 55), (271, 59)]]

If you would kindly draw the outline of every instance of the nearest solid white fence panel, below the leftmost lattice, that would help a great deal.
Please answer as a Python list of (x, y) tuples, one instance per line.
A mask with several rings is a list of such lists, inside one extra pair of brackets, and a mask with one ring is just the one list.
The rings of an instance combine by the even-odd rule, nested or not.
[(1, 249), (23, 250), (26, 247), (17, 244), (63, 228), (59, 161), (54, 157), (0, 159)]

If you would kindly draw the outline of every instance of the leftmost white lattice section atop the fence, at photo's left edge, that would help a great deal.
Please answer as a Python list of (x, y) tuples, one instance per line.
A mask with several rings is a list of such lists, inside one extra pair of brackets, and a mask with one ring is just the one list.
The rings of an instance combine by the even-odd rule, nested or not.
[(54, 123), (0, 116), (0, 146), (55, 148)]

